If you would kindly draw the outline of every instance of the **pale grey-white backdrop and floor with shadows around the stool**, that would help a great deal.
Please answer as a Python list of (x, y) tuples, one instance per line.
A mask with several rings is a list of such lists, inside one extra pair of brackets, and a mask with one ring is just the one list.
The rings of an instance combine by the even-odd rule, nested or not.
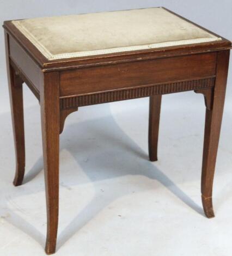
[[(232, 39), (223, 1), (3, 1), (0, 21), (164, 6)], [(45, 255), (46, 208), (40, 108), (24, 87), (26, 175), (14, 187), (3, 29), (0, 33), (0, 255)], [(56, 255), (232, 254), (232, 76), (228, 77), (213, 188), (216, 217), (200, 200), (204, 100), (163, 96), (158, 162), (148, 161), (148, 99), (83, 107), (60, 136), (60, 217)]]

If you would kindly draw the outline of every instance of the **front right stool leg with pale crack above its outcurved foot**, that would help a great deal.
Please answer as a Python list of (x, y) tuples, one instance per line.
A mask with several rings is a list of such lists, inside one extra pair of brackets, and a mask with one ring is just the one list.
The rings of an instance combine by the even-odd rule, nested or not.
[(218, 52), (215, 89), (211, 109), (206, 109), (202, 164), (202, 203), (206, 217), (214, 217), (212, 186), (225, 99), (229, 51)]

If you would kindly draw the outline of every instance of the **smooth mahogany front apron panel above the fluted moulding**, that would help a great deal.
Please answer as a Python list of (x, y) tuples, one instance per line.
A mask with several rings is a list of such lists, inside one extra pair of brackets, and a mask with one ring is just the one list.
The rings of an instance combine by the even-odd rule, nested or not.
[(215, 75), (216, 57), (213, 52), (63, 71), (60, 96), (210, 77)]

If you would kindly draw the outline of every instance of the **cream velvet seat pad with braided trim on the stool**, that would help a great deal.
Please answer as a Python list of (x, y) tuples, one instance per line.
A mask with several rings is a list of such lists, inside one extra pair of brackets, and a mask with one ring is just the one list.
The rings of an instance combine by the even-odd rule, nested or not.
[(12, 22), (50, 60), (221, 40), (163, 8)]

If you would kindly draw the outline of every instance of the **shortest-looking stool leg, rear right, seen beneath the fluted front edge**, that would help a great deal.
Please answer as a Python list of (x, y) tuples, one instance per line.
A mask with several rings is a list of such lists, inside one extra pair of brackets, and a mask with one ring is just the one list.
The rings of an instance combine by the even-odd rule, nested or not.
[(158, 127), (162, 95), (150, 96), (148, 149), (150, 161), (157, 161)]

